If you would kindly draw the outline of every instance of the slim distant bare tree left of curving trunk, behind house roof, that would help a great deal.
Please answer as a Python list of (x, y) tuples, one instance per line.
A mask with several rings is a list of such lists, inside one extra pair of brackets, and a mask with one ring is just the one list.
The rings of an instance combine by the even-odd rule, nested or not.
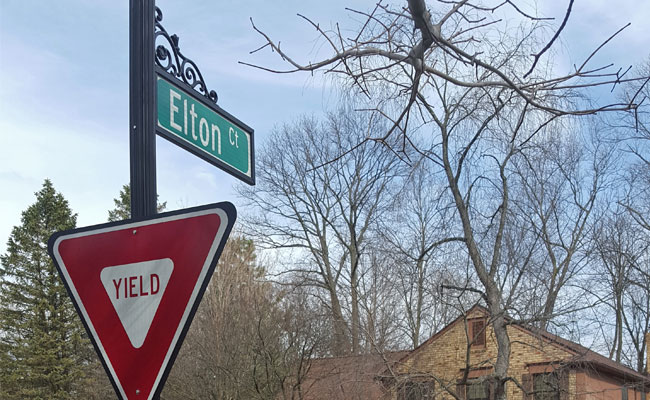
[(445, 256), (457, 253), (463, 238), (460, 232), (452, 234), (455, 215), (445, 196), (444, 177), (426, 160), (414, 164), (392, 212), (381, 222), (385, 257), (392, 262), (391, 279), (402, 300), (400, 324), (413, 348), (456, 314), (441, 301), (441, 285), (464, 285), (455, 278), (464, 275), (454, 273), (458, 260)]

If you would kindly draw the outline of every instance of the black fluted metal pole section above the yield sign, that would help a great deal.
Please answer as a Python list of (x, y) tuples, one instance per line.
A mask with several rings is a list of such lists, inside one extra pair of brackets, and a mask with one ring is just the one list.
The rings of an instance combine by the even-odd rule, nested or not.
[(129, 0), (131, 218), (156, 214), (155, 0)]

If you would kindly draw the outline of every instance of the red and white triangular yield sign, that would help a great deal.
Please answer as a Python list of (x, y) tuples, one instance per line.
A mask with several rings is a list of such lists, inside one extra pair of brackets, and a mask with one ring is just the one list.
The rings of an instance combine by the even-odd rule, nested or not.
[(160, 395), (236, 215), (232, 204), (217, 203), (50, 238), (120, 399)]

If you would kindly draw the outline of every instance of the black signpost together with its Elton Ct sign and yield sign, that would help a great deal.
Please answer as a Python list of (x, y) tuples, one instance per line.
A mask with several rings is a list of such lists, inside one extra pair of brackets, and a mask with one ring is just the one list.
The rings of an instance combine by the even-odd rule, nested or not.
[[(180, 52), (178, 37), (169, 35), (161, 21), (162, 12), (156, 8), (155, 0), (129, 0), (131, 219), (56, 233), (50, 237), (48, 248), (120, 400), (160, 399), (237, 215), (235, 207), (226, 202), (156, 215), (156, 132), (244, 182), (255, 184), (253, 129), (216, 105), (216, 92), (208, 91), (196, 64)], [(156, 38), (161, 41), (157, 47)], [(199, 224), (200, 217), (205, 217), (207, 222)], [(165, 231), (163, 228), (170, 221), (174, 222), (171, 225), (174, 231)], [(212, 236), (206, 236), (206, 229), (214, 228), (215, 241), (204, 243), (205, 258), (197, 261), (197, 251), (178, 240), (180, 221), (191, 221), (187, 222), (187, 232), (181, 234), (186, 238), (195, 234), (201, 240), (210, 239)], [(113, 235), (114, 232), (117, 233)], [(64, 238), (64, 235), (68, 236)], [(86, 236), (92, 237), (88, 239), (92, 245)], [(169, 240), (163, 242), (165, 237)], [(73, 243), (73, 239), (76, 243), (70, 245), (73, 247), (59, 247), (63, 240)], [(64, 263), (64, 254), (72, 264)], [(195, 262), (185, 262), (186, 256), (193, 256)], [(90, 259), (95, 263), (93, 268), (88, 268)], [(180, 271), (176, 275), (172, 274), (174, 262)], [(196, 267), (193, 270), (196, 280), (187, 281), (191, 265)], [(167, 274), (164, 285), (159, 275), (163, 273)], [(176, 280), (178, 276), (184, 278)], [(129, 295), (126, 294), (127, 278)], [(118, 293), (117, 289), (122, 279), (125, 292), (120, 299), (122, 290)], [(137, 279), (139, 291), (132, 283)], [(155, 292), (154, 282), (157, 282)], [(179, 286), (174, 282), (181, 282), (179, 285), (190, 282), (194, 286), (175, 291), (173, 287)], [(106, 292), (102, 293), (103, 290)], [(177, 301), (183, 293), (188, 302), (182, 313), (175, 314), (178, 324), (166, 325), (173, 322), (168, 320), (173, 313), (160, 311), (158, 305)], [(141, 302), (143, 296), (145, 302)], [(163, 296), (167, 297), (163, 299)], [(140, 302), (134, 303), (136, 300), (132, 298)], [(90, 317), (87, 312), (90, 309), (95, 310), (96, 317)], [(149, 319), (143, 320), (144, 316)], [(157, 328), (150, 330), (154, 326)], [(165, 327), (169, 326), (172, 329), (165, 336)], [(112, 330), (115, 327), (117, 333)], [(98, 334), (100, 330), (108, 332), (107, 336)], [(110, 338), (110, 343), (103, 343), (100, 336)], [(116, 357), (108, 355), (108, 346), (116, 346), (117, 350), (111, 351)], [(134, 357), (128, 358), (126, 354)], [(151, 362), (142, 364), (143, 360)], [(152, 370), (143, 365), (160, 368), (151, 375)], [(134, 369), (141, 366), (140, 372), (151, 373), (136, 374)], [(128, 391), (125, 382), (129, 382)]]

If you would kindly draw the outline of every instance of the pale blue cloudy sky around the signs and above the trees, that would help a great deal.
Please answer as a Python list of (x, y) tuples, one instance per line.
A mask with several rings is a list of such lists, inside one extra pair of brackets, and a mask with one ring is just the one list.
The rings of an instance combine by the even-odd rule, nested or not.
[[(128, 1), (0, 0), (0, 254), (21, 212), (43, 181), (78, 214), (78, 226), (106, 222), (129, 181)], [(406, 3), (406, 2), (404, 2)], [(568, 0), (518, 4), (562, 18)], [(296, 14), (324, 27), (359, 26), (346, 7), (369, 10), (370, 0), (158, 0), (163, 26), (180, 37), (218, 104), (255, 130), (256, 148), (269, 132), (302, 114), (336, 103), (336, 90), (319, 74), (276, 75), (238, 61), (278, 66), (276, 54), (250, 52), (264, 44), (250, 19), (302, 60), (322, 51), (317, 33)], [(650, 53), (650, 0), (576, 0), (562, 35), (570, 68), (628, 22), (604, 59), (627, 68)], [(595, 60), (599, 62), (600, 60)], [(157, 138), (157, 185), (167, 210), (223, 200), (238, 205), (235, 178)], [(258, 177), (264, 171), (257, 170)]]

